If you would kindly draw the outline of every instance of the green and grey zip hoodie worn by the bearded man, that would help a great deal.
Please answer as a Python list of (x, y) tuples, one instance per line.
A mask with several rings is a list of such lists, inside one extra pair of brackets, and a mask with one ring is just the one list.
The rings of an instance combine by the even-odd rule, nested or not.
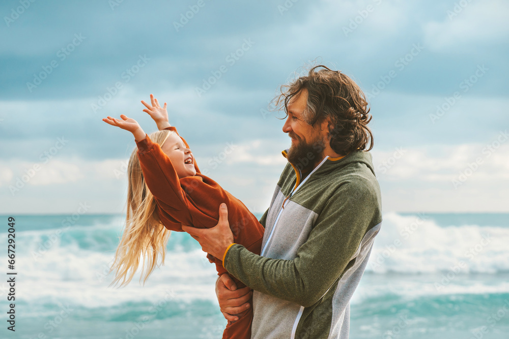
[(261, 255), (234, 244), (224, 257), (254, 290), (253, 339), (348, 338), (350, 299), (382, 222), (371, 153), (326, 157), (301, 177), (291, 163), (283, 170), (260, 220)]

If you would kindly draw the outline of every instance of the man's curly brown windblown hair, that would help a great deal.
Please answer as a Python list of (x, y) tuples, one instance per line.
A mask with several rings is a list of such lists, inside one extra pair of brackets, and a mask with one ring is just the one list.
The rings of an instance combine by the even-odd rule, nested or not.
[[(317, 68), (322, 68), (316, 71)], [(288, 116), (290, 99), (307, 89), (307, 107), (303, 112), (303, 120), (313, 128), (321, 124), (327, 117), (329, 124), (330, 147), (340, 155), (351, 151), (371, 150), (373, 134), (367, 127), (372, 116), (370, 108), (360, 87), (341, 71), (333, 71), (319, 65), (309, 70), (307, 76), (299, 77), (290, 84), (282, 85), (281, 94), (272, 103), (280, 110), (284, 104), (285, 117)], [(366, 149), (369, 143), (369, 148)]]

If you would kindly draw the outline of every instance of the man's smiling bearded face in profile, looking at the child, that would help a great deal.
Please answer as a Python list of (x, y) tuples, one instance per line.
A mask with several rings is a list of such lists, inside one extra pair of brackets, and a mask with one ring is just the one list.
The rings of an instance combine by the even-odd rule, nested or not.
[(308, 125), (303, 119), (307, 107), (307, 89), (303, 88), (298, 96), (292, 97), (287, 105), (288, 117), (283, 132), (292, 138), (287, 159), (297, 165), (303, 173), (311, 171), (318, 161), (324, 158), (324, 132)]

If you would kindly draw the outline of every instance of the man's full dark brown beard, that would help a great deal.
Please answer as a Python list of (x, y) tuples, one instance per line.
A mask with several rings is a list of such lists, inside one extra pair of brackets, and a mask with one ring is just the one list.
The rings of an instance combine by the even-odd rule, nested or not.
[(292, 132), (289, 132), (288, 135), (296, 140), (288, 151), (288, 161), (297, 166), (303, 174), (309, 173), (323, 159), (325, 142), (320, 135), (315, 136), (309, 142), (302, 140)]

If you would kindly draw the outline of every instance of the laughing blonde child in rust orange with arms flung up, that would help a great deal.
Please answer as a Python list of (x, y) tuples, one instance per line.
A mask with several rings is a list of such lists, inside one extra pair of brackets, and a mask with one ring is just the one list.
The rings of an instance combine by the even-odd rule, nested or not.
[[(142, 100), (147, 107), (144, 112), (154, 119), (161, 130), (150, 136), (145, 134), (136, 120), (124, 114), (120, 115), (122, 120), (110, 116), (103, 119), (109, 125), (131, 132), (137, 146), (129, 159), (126, 228), (111, 268), (116, 269), (112, 284), (121, 278), (121, 286), (131, 281), (140, 254), (143, 254), (144, 262), (149, 254), (144, 282), (154, 269), (160, 252), (164, 262), (169, 232), (165, 232), (161, 224), (178, 232), (182, 232), (182, 225), (214, 227), (219, 220), (218, 210), (222, 202), (228, 206), (234, 242), (260, 254), (264, 227), (240, 200), (201, 174), (189, 145), (178, 135), (177, 129), (169, 125), (166, 103), (161, 107), (152, 95), (150, 99), (152, 106)], [(227, 272), (222, 266), (222, 258), (210, 254), (207, 258), (216, 264), (218, 275)], [(232, 278), (238, 289), (245, 287), (235, 277)], [(252, 305), (252, 297), (249, 303)], [(249, 307), (236, 322), (227, 325), (223, 339), (249, 339), (251, 322), (252, 307)]]

